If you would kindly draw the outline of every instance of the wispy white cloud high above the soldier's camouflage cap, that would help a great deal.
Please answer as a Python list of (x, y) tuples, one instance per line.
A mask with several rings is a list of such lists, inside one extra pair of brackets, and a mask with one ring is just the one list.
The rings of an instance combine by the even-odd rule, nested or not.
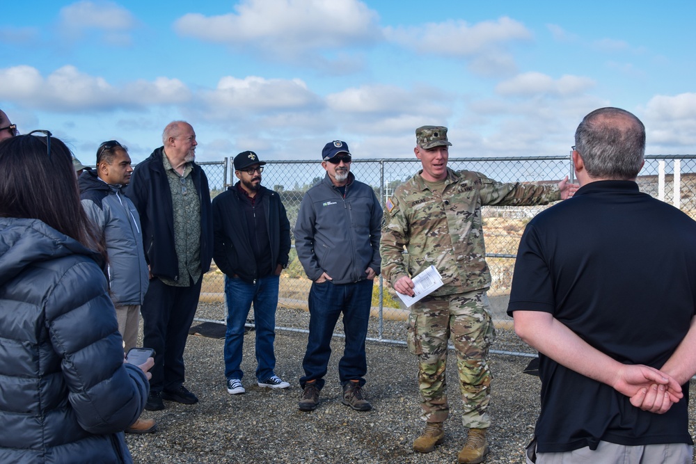
[(474, 59), (477, 66), (473, 70), (484, 74), (513, 70), (514, 61), (505, 47), (532, 38), (532, 33), (521, 22), (509, 17), (473, 25), (449, 20), (418, 27), (387, 27), (384, 34), (390, 42), (413, 49), (418, 54)]

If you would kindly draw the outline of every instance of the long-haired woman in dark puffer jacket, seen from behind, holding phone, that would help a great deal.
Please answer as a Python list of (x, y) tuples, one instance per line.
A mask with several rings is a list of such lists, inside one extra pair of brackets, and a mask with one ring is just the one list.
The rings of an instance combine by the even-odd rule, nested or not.
[(0, 463), (130, 463), (152, 360), (123, 362), (70, 150), (8, 138), (0, 172)]

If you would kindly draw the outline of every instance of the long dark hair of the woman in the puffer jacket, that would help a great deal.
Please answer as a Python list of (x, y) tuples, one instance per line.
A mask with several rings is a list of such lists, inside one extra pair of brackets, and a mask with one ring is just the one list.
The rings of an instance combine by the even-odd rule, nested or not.
[(51, 138), (24, 135), (0, 143), (0, 217), (38, 219), (106, 257), (104, 243), (80, 203), (72, 153)]

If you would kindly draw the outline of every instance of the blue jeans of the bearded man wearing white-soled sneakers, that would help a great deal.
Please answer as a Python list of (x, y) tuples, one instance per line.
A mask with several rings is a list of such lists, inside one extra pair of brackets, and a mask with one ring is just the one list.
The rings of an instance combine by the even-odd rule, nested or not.
[(244, 324), (254, 305), (256, 323), (256, 378), (264, 381), (276, 375), (276, 355), (273, 343), (276, 339), (276, 306), (278, 305), (278, 275), (256, 279), (255, 283), (244, 282), (238, 277), (225, 276), (227, 296), (227, 332), (225, 334), (225, 376), (239, 378), (244, 376), (242, 364), (242, 344), (244, 343)]

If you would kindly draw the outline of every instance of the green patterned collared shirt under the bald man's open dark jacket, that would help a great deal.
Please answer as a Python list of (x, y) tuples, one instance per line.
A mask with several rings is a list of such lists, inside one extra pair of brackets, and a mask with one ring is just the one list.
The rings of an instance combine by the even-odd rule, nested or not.
[[(169, 181), (174, 211), (174, 245), (179, 261), (178, 280), (160, 278), (166, 285), (189, 287), (191, 280), (198, 282), (200, 269), (200, 199), (193, 184), (191, 163), (184, 166), (180, 175), (172, 167), (162, 150), (162, 163)], [(190, 277), (190, 279), (189, 279)]]

